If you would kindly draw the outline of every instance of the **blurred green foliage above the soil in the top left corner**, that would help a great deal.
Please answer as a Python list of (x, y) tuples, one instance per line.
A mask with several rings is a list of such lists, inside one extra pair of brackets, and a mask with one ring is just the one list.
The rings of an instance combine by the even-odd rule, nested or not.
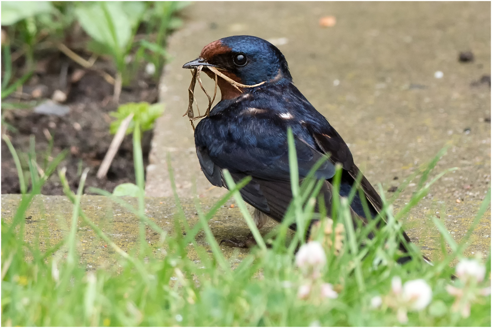
[[(156, 78), (168, 59), (165, 40), (182, 24), (176, 13), (188, 4), (187, 1), (2, 1), (2, 98), (29, 78), (25, 76), (34, 68), (35, 52), (56, 49), (57, 44), (71, 38), (75, 22), (90, 36), (86, 50), (113, 58), (123, 86), (130, 83), (145, 62), (154, 65), (151, 75)], [(135, 40), (137, 32), (140, 34)], [(11, 58), (11, 51), (16, 52), (15, 59)], [(7, 52), (9, 56), (5, 55)], [(21, 56), (26, 60), (22, 74), (18, 74), (11, 60)], [(7, 88), (14, 76), (25, 78), (17, 80), (15, 88)]]

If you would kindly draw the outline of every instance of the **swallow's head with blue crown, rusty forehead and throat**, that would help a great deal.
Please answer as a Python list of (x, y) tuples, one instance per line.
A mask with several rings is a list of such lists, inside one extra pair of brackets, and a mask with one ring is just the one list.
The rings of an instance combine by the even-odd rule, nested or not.
[[(183, 68), (197, 68), (200, 65), (204, 66), (203, 71), (211, 78), (215, 78), (214, 73), (207, 67), (215, 67), (225, 76), (248, 86), (261, 82), (292, 81), (287, 61), (280, 50), (270, 42), (251, 35), (235, 35), (214, 41), (203, 48), (200, 57), (185, 63)], [(217, 84), (222, 99), (241, 94), (221, 77), (218, 77)]]

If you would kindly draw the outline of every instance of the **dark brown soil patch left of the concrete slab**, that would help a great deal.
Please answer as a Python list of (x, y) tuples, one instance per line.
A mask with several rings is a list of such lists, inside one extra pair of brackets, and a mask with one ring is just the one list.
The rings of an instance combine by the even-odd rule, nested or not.
[[(84, 55), (88, 57), (87, 55)], [(18, 63), (19, 69), (22, 62)], [(107, 72), (115, 76), (110, 60), (97, 60), (91, 69), (84, 69), (61, 53), (47, 54), (38, 60), (36, 71), (22, 91), (18, 90), (3, 100), (3, 103), (15, 103), (22, 109), (2, 109), (4, 122), (16, 129), (2, 132), (10, 136), (11, 142), (21, 157), (21, 164), (28, 171), (27, 152), (30, 138), (35, 137), (37, 162), (43, 163), (54, 158), (63, 149), (69, 149), (59, 167), (65, 166), (66, 177), (72, 190), (78, 187), (82, 170), (89, 167), (87, 187), (98, 187), (112, 192), (115, 186), (124, 182), (135, 182), (133, 169), (133, 147), (131, 135), (124, 138), (106, 179), (97, 179), (96, 173), (113, 139), (109, 133), (109, 124), (113, 120), (109, 112), (118, 107), (112, 101), (113, 85), (101, 74)], [(62, 103), (68, 106), (65, 115), (45, 115), (34, 112), (34, 107), (51, 98), (56, 90), (66, 95)], [(126, 102), (157, 101), (157, 84), (140, 71), (129, 87), (123, 87), (120, 104)], [(47, 153), (49, 135), (53, 139), (53, 152)], [(148, 154), (152, 140), (152, 131), (143, 133), (142, 150), (144, 165), (148, 165)], [(20, 184), (13, 158), (4, 141), (1, 142), (1, 193), (20, 193)], [(44, 185), (42, 194), (62, 195), (62, 186), (57, 174)]]

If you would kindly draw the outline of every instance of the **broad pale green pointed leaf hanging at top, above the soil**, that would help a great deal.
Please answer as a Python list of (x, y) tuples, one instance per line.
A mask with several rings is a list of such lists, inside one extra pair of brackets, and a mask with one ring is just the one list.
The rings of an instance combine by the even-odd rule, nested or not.
[[(105, 15), (105, 10), (108, 15)], [(131, 25), (128, 22), (133, 17), (128, 17), (119, 1), (84, 4), (75, 9), (75, 15), (87, 34), (115, 53), (125, 49), (130, 41)]]

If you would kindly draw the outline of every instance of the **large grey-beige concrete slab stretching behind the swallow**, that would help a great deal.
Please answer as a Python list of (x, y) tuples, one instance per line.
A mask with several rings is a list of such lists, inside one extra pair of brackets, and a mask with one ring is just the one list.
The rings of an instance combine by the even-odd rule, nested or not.
[[(169, 40), (174, 59), (161, 81), (166, 109), (155, 125), (146, 194), (172, 195), (167, 152), (181, 196), (191, 196), (193, 179), (201, 196), (224, 193), (200, 171), (193, 131), (182, 117), (191, 74), (181, 66), (209, 42), (255, 35), (277, 44), (295, 85), (337, 129), (369, 181), (381, 183), (385, 192), (450, 145), (433, 174), (460, 169), (436, 182), (403, 220), (412, 240), (428, 255), (438, 253), (432, 246), (438, 232), (429, 217), (440, 216), (459, 240), (490, 187), (491, 90), (487, 84), (471, 86), (491, 72), (490, 13), (490, 2), (193, 3), (185, 10), (184, 28)], [(320, 27), (325, 15), (335, 16), (337, 24)], [(468, 50), (475, 60), (459, 62), (459, 53)], [(435, 77), (437, 71), (442, 78)], [(412, 191), (410, 185), (395, 209)], [(483, 254), (490, 235), (489, 212), (473, 237)]]

